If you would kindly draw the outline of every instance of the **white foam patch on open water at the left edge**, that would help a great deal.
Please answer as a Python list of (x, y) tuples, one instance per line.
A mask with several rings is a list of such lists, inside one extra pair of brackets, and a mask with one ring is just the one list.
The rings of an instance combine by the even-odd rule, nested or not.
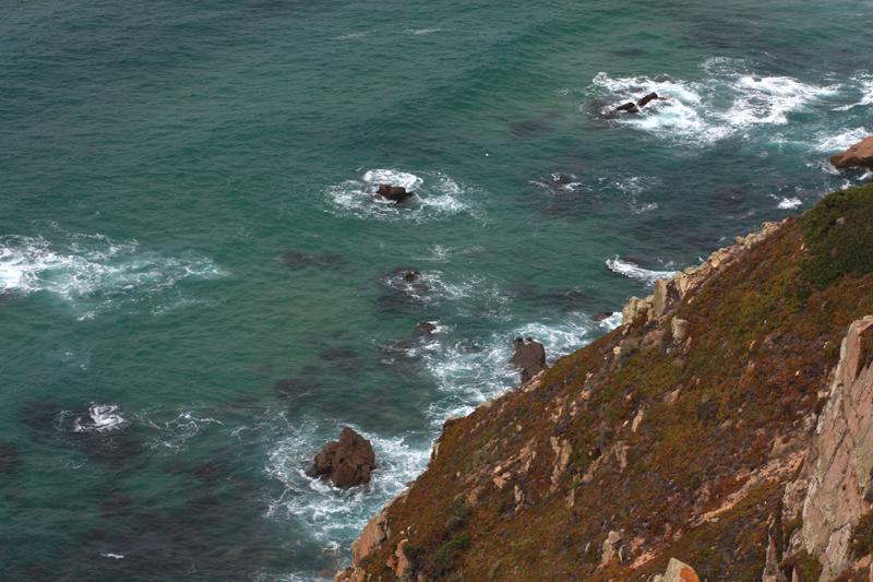
[(60, 242), (0, 237), (0, 293), (51, 293), (82, 308), (80, 319), (113, 304), (153, 298), (184, 280), (224, 274), (196, 253), (141, 252), (135, 240), (117, 242), (103, 235), (71, 235)]

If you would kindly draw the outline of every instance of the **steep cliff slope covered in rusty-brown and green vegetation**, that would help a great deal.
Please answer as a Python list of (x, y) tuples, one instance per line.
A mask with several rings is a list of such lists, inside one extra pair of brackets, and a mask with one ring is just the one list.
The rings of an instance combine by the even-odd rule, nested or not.
[(447, 421), (337, 580), (869, 575), (869, 313), (873, 187), (658, 282), (618, 330)]

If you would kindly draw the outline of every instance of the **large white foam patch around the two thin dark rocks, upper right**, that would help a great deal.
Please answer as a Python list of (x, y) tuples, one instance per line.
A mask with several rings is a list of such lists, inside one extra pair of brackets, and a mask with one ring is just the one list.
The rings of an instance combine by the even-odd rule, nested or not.
[(669, 76), (612, 78), (598, 73), (589, 94), (605, 99), (610, 116), (615, 107), (657, 93), (637, 114), (613, 116), (615, 122), (659, 138), (690, 145), (710, 144), (757, 126), (781, 126), (789, 115), (803, 111), (839, 94), (839, 85), (821, 86), (781, 75), (750, 74), (742, 61), (710, 59), (699, 81)]

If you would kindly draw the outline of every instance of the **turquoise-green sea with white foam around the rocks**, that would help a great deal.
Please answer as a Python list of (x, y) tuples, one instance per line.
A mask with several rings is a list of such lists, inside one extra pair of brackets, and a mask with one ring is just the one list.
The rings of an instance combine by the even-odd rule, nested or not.
[[(868, 179), (826, 159), (873, 132), (869, 1), (0, 15), (8, 580), (327, 578), (441, 423), (513, 384), (513, 337), (567, 353)], [(380, 463), (350, 491), (302, 473), (344, 425)]]

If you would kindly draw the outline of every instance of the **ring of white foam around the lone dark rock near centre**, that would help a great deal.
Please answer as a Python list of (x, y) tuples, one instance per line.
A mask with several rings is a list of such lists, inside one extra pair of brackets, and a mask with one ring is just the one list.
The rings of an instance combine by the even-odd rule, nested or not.
[[(415, 195), (396, 203), (376, 194), (380, 185), (402, 186)], [(371, 169), (358, 179), (331, 186), (326, 197), (333, 212), (359, 218), (424, 222), (459, 213), (479, 215), (467, 201), (467, 189), (439, 171), (417, 176), (397, 169)]]

